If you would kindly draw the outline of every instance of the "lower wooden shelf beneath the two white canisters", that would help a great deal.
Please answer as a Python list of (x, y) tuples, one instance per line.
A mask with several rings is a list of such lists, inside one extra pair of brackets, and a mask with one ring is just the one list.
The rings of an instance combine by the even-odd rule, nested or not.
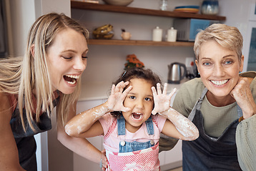
[(194, 42), (189, 41), (136, 41), (136, 40), (112, 40), (112, 39), (89, 39), (91, 45), (121, 45), (121, 46), (194, 46)]

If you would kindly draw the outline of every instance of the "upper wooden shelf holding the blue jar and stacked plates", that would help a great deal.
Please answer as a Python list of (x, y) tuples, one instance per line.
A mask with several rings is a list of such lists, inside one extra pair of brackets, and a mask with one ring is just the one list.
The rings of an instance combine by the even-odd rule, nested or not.
[(182, 13), (174, 11), (160, 11), (155, 9), (141, 9), (127, 6), (112, 6), (105, 4), (92, 4), (84, 1), (71, 1), (71, 7), (73, 9), (87, 9), (95, 11), (109, 11), (117, 13), (126, 13), (126, 14), (142, 14), (149, 16), (165, 16), (172, 18), (184, 18), (184, 19), (208, 19), (208, 20), (219, 20), (225, 21), (225, 16), (215, 16), (215, 15), (202, 15), (202, 14), (191, 14), (191, 13)]

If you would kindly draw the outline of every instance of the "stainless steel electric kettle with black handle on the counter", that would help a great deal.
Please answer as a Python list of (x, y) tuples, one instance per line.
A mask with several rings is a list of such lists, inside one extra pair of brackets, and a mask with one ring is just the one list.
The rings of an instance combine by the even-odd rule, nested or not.
[(183, 63), (171, 63), (168, 68), (168, 83), (179, 84), (187, 74), (187, 68)]

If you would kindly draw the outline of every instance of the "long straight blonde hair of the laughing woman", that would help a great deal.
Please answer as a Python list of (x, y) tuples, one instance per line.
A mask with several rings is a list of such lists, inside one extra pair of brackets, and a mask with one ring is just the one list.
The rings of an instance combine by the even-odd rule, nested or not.
[[(53, 43), (56, 34), (67, 28), (72, 28), (82, 33), (86, 39), (89, 38), (88, 31), (79, 25), (77, 21), (64, 14), (46, 14), (39, 17), (30, 28), (23, 61), (21, 58), (10, 58), (0, 62), (0, 74), (4, 73), (3, 78), (0, 79), (1, 91), (19, 94), (19, 113), (24, 130), (26, 130), (26, 126), (22, 113), (23, 107), (26, 108), (26, 118), (29, 126), (34, 130), (31, 122), (34, 120), (33, 110), (35, 110), (32, 101), (32, 90), (36, 90), (36, 122), (39, 122), (41, 112), (47, 112), (50, 117), (50, 113), (54, 108), (54, 90), (52, 90), (51, 86), (46, 51)], [(32, 47), (34, 48), (34, 56), (31, 54)], [(56, 110), (58, 124), (62, 123), (64, 125), (66, 123), (67, 113), (70, 110), (69, 106), (79, 98), (80, 84), (81, 81), (78, 81), (74, 93), (61, 95), (57, 105), (58, 110)]]

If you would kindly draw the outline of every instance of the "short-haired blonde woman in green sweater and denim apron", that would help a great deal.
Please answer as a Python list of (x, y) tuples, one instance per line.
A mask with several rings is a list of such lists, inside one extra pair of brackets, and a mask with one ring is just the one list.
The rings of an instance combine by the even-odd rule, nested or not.
[(200, 78), (184, 83), (173, 103), (200, 131), (182, 141), (183, 170), (256, 170), (256, 72), (240, 73), (240, 31), (212, 24), (197, 34), (194, 51)]

